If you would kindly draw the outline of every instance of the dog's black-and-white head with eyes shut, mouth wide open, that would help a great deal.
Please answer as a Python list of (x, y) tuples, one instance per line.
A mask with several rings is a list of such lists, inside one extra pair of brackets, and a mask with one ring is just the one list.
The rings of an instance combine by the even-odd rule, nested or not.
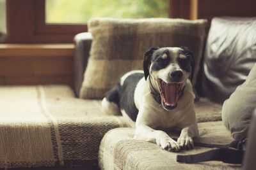
[(144, 54), (143, 69), (145, 80), (150, 75), (156, 81), (163, 108), (173, 110), (186, 81), (193, 78), (193, 53), (186, 47), (152, 47)]

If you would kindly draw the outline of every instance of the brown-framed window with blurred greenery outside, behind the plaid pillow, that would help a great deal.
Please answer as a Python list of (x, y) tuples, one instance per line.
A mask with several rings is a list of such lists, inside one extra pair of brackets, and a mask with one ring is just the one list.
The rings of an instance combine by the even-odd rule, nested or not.
[[(0, 0), (2, 1), (6, 3), (8, 32), (4, 43), (73, 43), (77, 33), (87, 31), (86, 22), (91, 17), (179, 17), (177, 4), (181, 2), (181, 0)], [(182, 0), (184, 3), (187, 1)], [(0, 17), (3, 16), (0, 14)]]

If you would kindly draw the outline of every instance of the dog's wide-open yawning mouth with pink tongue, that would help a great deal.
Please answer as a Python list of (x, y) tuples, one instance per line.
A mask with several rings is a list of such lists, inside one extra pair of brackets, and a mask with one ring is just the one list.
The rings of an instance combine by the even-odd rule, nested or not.
[(173, 110), (177, 107), (182, 90), (182, 83), (165, 83), (157, 79), (164, 109)]

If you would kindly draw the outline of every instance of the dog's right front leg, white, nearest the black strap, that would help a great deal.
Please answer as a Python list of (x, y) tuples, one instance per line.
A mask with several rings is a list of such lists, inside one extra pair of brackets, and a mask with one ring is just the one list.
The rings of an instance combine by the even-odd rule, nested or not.
[(180, 137), (177, 140), (177, 143), (182, 148), (193, 148), (194, 142), (193, 138), (198, 136), (198, 127), (197, 124), (184, 127), (180, 132)]

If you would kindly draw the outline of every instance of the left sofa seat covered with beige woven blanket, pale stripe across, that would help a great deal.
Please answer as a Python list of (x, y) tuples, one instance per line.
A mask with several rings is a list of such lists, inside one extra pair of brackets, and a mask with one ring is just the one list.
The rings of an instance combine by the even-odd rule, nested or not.
[(0, 87), (0, 96), (0, 168), (84, 164), (107, 131), (126, 126), (64, 85)]

